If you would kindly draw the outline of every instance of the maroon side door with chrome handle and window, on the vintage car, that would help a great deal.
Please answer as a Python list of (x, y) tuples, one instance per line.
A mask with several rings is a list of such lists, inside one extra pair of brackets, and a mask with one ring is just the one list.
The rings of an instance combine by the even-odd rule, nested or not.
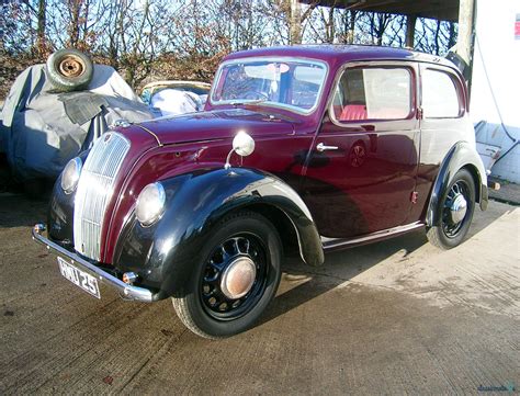
[(348, 64), (308, 156), (303, 196), (321, 236), (403, 225), (419, 147), (415, 63)]

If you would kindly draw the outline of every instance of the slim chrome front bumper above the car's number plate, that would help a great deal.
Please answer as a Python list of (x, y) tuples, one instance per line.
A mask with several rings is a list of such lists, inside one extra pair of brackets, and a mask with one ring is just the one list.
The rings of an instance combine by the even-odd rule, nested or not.
[(148, 288), (137, 287), (137, 286), (126, 284), (123, 281), (115, 278), (114, 275), (88, 262), (87, 260), (81, 258), (79, 254), (68, 251), (67, 249), (59, 246), (58, 244), (55, 244), (52, 240), (45, 238), (42, 235), (42, 231), (44, 230), (45, 230), (44, 225), (36, 224), (33, 227), (33, 239), (37, 241), (38, 244), (45, 245), (47, 249), (54, 250), (57, 254), (61, 257), (66, 257), (72, 262), (74, 265), (78, 267), (80, 270), (86, 271), (92, 276), (97, 278), (101, 283), (106, 284), (111, 286), (112, 288), (115, 288), (122, 295), (123, 298), (139, 301), (144, 303), (151, 303), (158, 299), (158, 295), (154, 294)]

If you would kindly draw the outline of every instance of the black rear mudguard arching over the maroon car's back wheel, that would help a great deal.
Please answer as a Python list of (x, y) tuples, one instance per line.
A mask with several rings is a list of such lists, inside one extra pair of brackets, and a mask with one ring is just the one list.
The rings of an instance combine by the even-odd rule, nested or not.
[(488, 192), (487, 192), (487, 176), (478, 152), (467, 142), (459, 142), (448, 151), (444, 160), (441, 163), (439, 173), (430, 195), (428, 204), (426, 224), (437, 226), (440, 223), (441, 212), (439, 208), (439, 200), (448, 185), (452, 182), (455, 173), (462, 168), (468, 168), (475, 179), (476, 202), (479, 203), (481, 210), (487, 208)]

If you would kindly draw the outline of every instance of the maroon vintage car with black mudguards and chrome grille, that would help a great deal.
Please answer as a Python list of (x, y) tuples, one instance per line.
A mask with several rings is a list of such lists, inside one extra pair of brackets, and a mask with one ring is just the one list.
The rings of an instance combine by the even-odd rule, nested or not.
[(273, 298), (286, 247), (319, 265), (328, 250), (419, 228), (440, 248), (461, 244), (488, 201), (467, 112), (460, 72), (426, 54), (231, 54), (205, 111), (120, 123), (72, 159), (33, 237), (98, 298), (99, 283), (171, 297), (195, 333), (235, 335)]

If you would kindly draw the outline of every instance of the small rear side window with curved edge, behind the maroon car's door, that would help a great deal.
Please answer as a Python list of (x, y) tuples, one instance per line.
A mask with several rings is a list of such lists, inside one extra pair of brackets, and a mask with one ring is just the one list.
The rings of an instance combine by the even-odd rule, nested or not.
[(456, 86), (449, 73), (433, 69), (422, 72), (422, 111), (425, 118), (461, 115)]

